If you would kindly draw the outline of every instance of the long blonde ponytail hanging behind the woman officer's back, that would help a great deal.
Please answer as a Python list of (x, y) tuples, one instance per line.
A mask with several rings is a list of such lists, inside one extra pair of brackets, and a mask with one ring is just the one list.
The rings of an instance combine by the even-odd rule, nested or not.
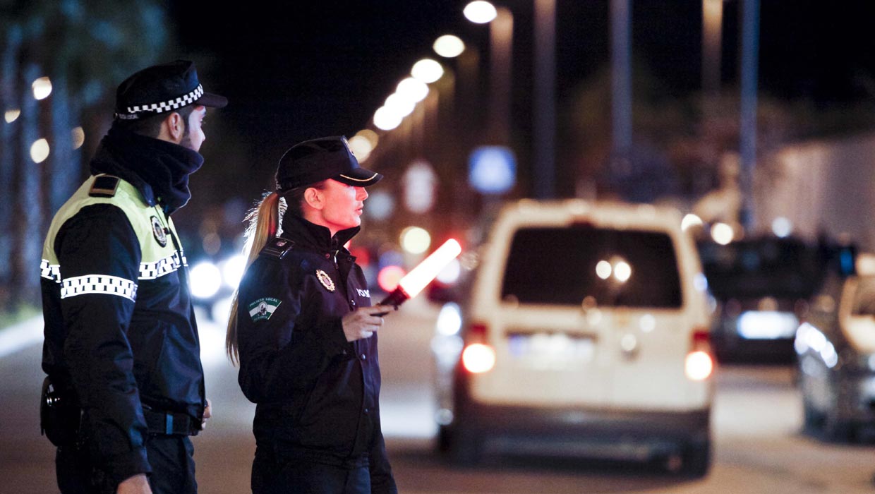
[[(268, 240), (282, 233), (280, 225), (283, 221), (285, 207), (284, 198), (281, 198), (276, 192), (269, 192), (264, 194), (262, 202), (247, 213), (245, 219), (248, 222), (246, 244), (243, 247), (247, 269), (258, 257), (258, 253), (261, 252)], [(235, 290), (234, 298), (231, 300), (231, 314), (228, 316), (228, 333), (225, 335), (225, 350), (234, 365), (240, 364), (240, 353), (237, 351), (238, 294), (239, 290)]]

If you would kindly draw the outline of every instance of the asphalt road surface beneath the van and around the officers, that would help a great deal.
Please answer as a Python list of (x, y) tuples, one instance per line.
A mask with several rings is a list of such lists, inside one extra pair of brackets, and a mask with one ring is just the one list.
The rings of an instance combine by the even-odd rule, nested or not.
[[(221, 311), (221, 310), (220, 310)], [(429, 341), (437, 308), (420, 300), (387, 317), (381, 330), (383, 430), (402, 492), (463, 493), (763, 493), (875, 492), (875, 446), (818, 442), (799, 433), (800, 397), (788, 367), (723, 367), (713, 409), (715, 463), (690, 481), (655, 465), (504, 456), (454, 468), (432, 452)], [(200, 492), (248, 492), (255, 407), (240, 393), (222, 352), (224, 329), (201, 317), (207, 393), (215, 418), (194, 439)], [(53, 449), (38, 430), (39, 333), (0, 351), (0, 493), (53, 493)]]

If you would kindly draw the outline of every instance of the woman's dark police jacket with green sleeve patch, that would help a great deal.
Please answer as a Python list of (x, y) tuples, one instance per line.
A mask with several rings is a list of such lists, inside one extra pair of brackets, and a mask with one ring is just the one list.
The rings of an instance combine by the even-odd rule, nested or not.
[(371, 305), (361, 268), (324, 226), (287, 215), (283, 236), (249, 266), (239, 292), (239, 382), (255, 402), (258, 448), (356, 466), (395, 492), (380, 428), (377, 335), (346, 342), (341, 317)]

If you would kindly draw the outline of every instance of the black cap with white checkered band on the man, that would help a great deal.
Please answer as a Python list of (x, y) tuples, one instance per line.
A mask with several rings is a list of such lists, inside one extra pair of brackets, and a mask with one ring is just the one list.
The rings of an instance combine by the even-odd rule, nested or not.
[(193, 104), (224, 108), (228, 99), (206, 93), (194, 62), (189, 60), (146, 67), (124, 80), (116, 90), (116, 118), (122, 120), (136, 120)]

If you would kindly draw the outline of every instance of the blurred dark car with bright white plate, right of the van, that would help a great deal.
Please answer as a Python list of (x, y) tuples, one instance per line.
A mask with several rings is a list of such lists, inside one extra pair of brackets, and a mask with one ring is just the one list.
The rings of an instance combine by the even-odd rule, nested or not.
[(793, 237), (698, 244), (717, 302), (711, 343), (720, 362), (791, 364), (799, 321), (823, 281), (823, 250)]

